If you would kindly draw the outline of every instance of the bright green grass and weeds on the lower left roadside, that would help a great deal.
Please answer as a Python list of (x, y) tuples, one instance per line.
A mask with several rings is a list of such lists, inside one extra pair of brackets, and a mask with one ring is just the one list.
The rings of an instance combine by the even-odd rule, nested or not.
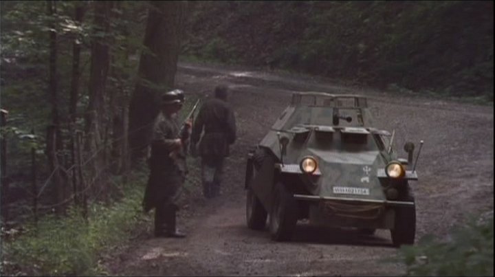
[(3, 241), (3, 274), (95, 275), (104, 274), (98, 254), (126, 239), (144, 219), (141, 201), (145, 175), (123, 188), (124, 199), (110, 206), (94, 203), (87, 222), (82, 211), (71, 208), (67, 217), (49, 215), (25, 226), (17, 239)]

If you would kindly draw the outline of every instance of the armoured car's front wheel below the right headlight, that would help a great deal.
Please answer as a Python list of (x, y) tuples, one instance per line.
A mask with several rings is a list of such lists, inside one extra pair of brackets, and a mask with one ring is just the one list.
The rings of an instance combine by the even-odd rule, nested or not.
[[(410, 197), (408, 201), (413, 201)], [(395, 210), (394, 229), (391, 230), (392, 243), (395, 247), (412, 245), (416, 234), (416, 206), (399, 207)]]

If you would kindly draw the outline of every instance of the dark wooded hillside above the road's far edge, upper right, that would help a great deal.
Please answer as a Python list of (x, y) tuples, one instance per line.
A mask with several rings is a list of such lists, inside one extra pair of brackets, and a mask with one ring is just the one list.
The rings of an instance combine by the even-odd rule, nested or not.
[(184, 54), (492, 98), (493, 1), (198, 3)]

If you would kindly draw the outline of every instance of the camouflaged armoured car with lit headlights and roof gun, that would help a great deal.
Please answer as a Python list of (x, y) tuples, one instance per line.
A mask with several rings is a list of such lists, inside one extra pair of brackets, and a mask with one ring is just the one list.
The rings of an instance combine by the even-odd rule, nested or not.
[[(417, 180), (408, 158), (398, 158), (395, 132), (373, 126), (367, 98), (322, 92), (293, 93), (261, 142), (248, 153), (245, 172), (248, 228), (274, 241), (292, 239), (298, 220), (374, 234), (391, 231), (393, 245), (415, 241)], [(421, 141), (421, 146), (423, 142)], [(412, 167), (412, 168), (408, 168)]]

